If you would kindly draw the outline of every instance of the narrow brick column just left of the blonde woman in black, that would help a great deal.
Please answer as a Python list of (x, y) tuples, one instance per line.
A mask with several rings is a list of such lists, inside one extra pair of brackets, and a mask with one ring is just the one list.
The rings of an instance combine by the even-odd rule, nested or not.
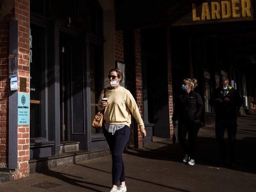
[(171, 65), (171, 31), (167, 28), (167, 65), (168, 65), (168, 98), (169, 98), (169, 117), (170, 117), (170, 134), (173, 137), (173, 83), (172, 83), (172, 65)]

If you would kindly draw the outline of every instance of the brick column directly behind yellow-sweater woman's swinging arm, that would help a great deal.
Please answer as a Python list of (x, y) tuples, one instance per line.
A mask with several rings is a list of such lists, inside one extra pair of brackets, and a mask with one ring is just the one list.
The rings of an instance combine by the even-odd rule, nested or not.
[[(135, 100), (137, 102), (139, 113), (143, 118), (143, 90), (142, 90), (142, 70), (141, 70), (141, 31), (134, 30), (134, 64), (135, 64)], [(137, 145), (139, 148), (143, 147), (143, 138), (137, 127)]]

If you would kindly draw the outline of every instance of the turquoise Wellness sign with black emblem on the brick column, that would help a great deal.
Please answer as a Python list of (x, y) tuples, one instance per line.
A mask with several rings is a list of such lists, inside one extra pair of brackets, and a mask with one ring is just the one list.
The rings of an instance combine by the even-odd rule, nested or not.
[(18, 125), (29, 124), (29, 94), (18, 94)]

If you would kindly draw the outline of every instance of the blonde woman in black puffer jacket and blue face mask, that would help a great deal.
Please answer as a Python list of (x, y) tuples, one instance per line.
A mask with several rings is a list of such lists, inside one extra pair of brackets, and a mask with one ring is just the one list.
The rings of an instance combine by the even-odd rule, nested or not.
[[(201, 125), (200, 116), (204, 109), (200, 94), (194, 92), (197, 86), (197, 79), (183, 80), (183, 91), (176, 99), (172, 118), (174, 127), (178, 118), (178, 140), (185, 153), (183, 162), (189, 165), (195, 164), (197, 133)], [(186, 141), (187, 133), (188, 143)]]

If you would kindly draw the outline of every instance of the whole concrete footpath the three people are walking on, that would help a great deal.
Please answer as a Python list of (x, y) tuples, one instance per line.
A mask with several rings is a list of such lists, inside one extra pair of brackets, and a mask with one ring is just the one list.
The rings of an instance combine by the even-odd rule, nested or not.
[[(198, 133), (195, 166), (182, 163), (183, 153), (176, 142), (155, 138), (143, 149), (126, 150), (128, 192), (254, 192), (256, 191), (256, 116), (239, 117), (237, 162), (218, 164), (213, 126)], [(45, 188), (39, 188), (39, 187)], [(111, 157), (98, 158), (0, 184), (3, 192), (109, 192)], [(46, 189), (47, 188), (47, 189)]]

